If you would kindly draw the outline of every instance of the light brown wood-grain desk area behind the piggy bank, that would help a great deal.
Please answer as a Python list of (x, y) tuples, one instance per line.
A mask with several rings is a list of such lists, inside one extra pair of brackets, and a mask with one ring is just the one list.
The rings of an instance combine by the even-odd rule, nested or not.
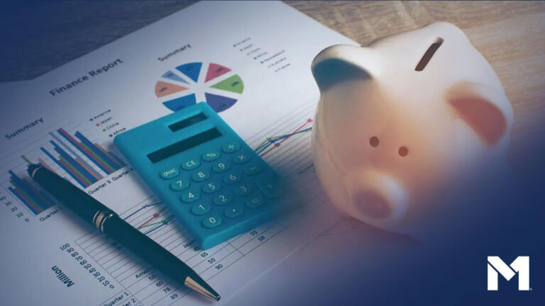
[[(362, 45), (434, 21), (461, 28), (492, 64), (514, 111), (510, 162), (521, 176), (545, 153), (544, 1), (287, 1)], [(526, 158), (529, 157), (529, 158)]]

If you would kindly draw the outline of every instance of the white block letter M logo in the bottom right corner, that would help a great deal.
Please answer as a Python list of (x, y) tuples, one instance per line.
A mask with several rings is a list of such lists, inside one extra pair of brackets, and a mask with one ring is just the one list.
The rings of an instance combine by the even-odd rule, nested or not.
[(497, 273), (510, 280), (519, 273), (519, 291), (530, 290), (530, 256), (518, 256), (509, 266), (498, 256), (488, 256), (488, 291), (497, 290)]

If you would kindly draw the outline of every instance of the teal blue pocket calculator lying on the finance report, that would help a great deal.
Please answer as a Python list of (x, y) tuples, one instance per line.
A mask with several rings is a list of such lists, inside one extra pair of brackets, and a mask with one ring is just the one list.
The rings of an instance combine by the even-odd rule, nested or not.
[(290, 209), (287, 183), (207, 103), (123, 132), (114, 144), (203, 249)]

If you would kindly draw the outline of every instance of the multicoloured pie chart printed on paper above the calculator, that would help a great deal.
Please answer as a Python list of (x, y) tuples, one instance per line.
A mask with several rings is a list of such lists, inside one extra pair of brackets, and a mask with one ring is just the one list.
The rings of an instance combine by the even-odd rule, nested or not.
[(235, 105), (244, 90), (238, 74), (213, 62), (189, 62), (165, 72), (155, 83), (155, 96), (171, 111), (206, 101), (217, 113)]

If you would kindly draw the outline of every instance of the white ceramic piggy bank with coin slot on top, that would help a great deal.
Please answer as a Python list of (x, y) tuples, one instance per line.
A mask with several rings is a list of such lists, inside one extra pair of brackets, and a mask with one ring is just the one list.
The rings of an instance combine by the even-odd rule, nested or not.
[[(507, 166), (512, 107), (490, 64), (450, 23), (334, 45), (312, 62), (312, 147), (326, 194), (376, 227), (411, 234), (439, 188)], [(446, 195), (445, 195), (446, 197)], [(434, 198), (437, 199), (437, 198)]]

